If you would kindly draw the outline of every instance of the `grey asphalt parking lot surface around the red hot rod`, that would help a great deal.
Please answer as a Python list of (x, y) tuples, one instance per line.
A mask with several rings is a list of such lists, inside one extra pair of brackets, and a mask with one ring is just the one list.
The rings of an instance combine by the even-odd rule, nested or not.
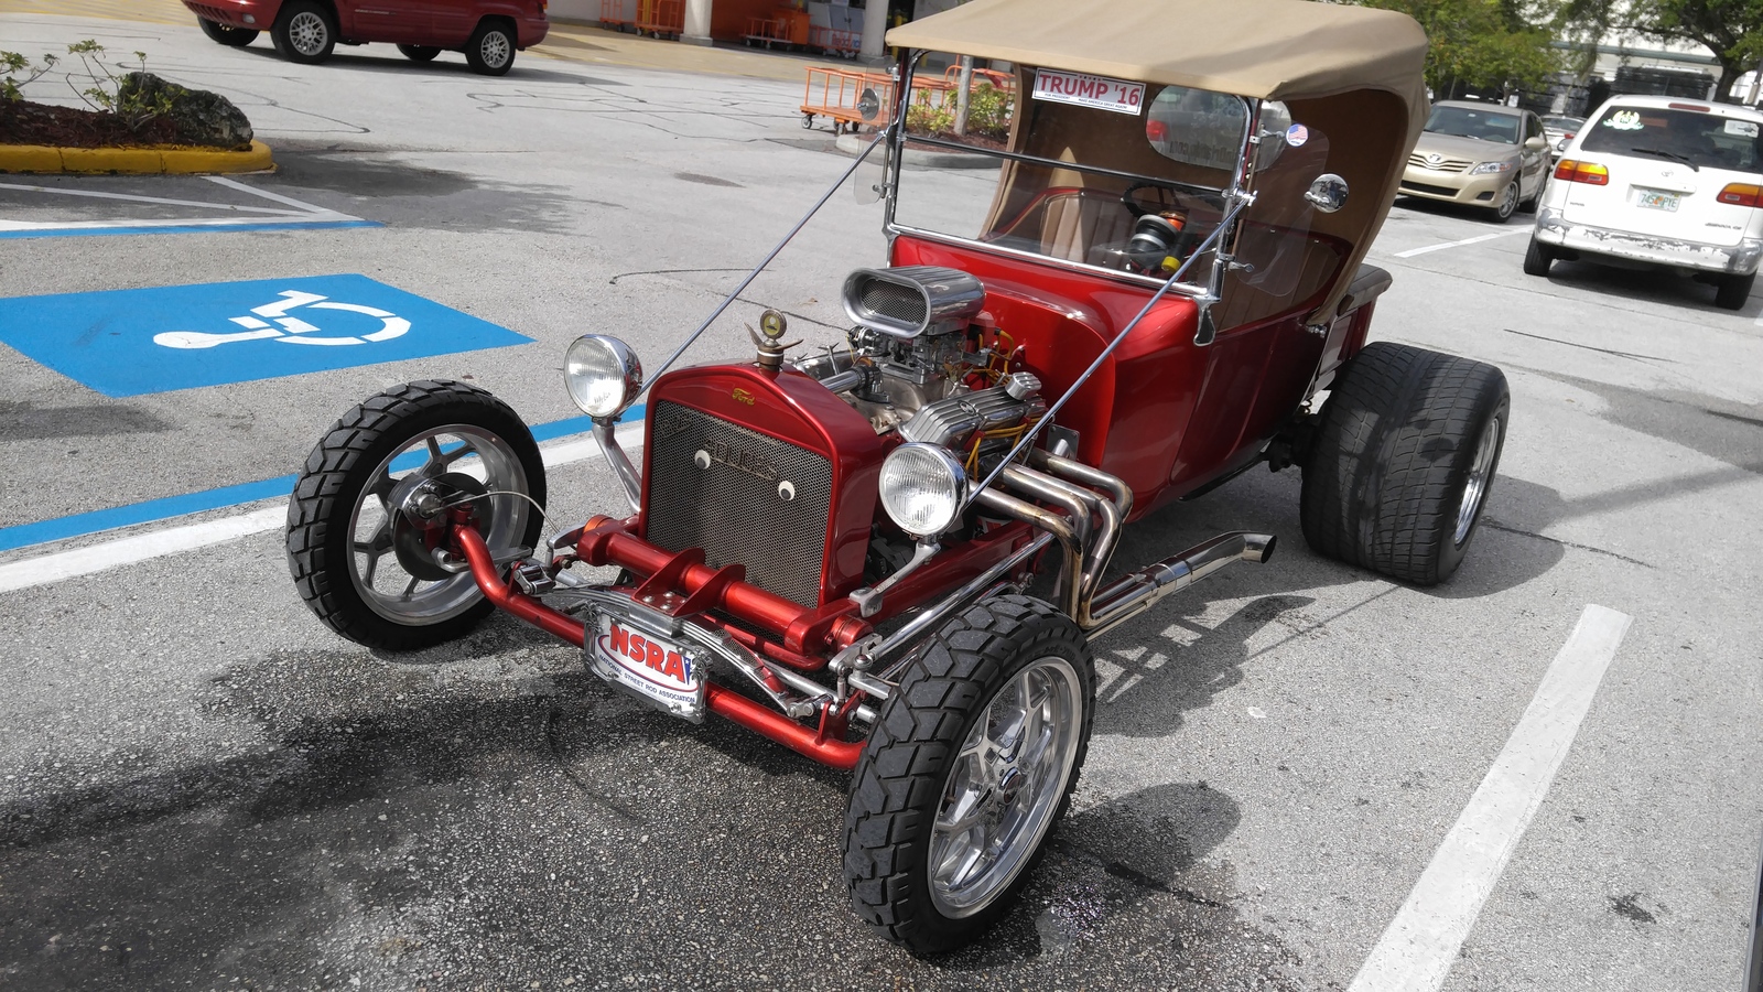
[[(800, 127), (800, 86), (534, 53), (485, 79), (383, 46), (300, 67), (194, 25), (53, 16), (0, 14), (0, 37), (146, 48), (233, 97), (280, 166), (0, 177), (0, 983), (1395, 988), (1354, 980), (1601, 607), (1627, 625), (1442, 987), (1737, 987), (1763, 837), (1763, 297), (1721, 311), (1707, 286), (1585, 263), (1525, 277), (1529, 215), (1398, 203), (1372, 335), (1513, 388), (1463, 570), (1414, 590), (1319, 558), (1294, 471), (1137, 524), (1142, 560), (1224, 530), (1282, 551), (1098, 644), (1084, 780), (1028, 897), (917, 960), (846, 907), (844, 775), (614, 695), (506, 618), (416, 655), (344, 643), (279, 530), (326, 425), (418, 378), (550, 427), (552, 519), (615, 508), (562, 349), (598, 330), (658, 362), (844, 171)], [(751, 355), (763, 305), (843, 330), (880, 221), (834, 196), (691, 360)], [(129, 353), (71, 374), (4, 337), (5, 311), (42, 307), (37, 337), (74, 342), (106, 300), (74, 295), (234, 282), (256, 286), (152, 307), (236, 334), (287, 293), (435, 305), (458, 337), (330, 367), (243, 367), (222, 342), (213, 381), (171, 392), (130, 385)]]

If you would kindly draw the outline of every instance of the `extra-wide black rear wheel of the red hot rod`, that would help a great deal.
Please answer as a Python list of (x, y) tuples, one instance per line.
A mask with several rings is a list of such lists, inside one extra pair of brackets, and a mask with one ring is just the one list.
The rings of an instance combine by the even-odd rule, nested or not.
[(1481, 522), (1509, 415), (1493, 365), (1366, 344), (1336, 380), (1305, 461), (1305, 540), (1403, 582), (1449, 579)]

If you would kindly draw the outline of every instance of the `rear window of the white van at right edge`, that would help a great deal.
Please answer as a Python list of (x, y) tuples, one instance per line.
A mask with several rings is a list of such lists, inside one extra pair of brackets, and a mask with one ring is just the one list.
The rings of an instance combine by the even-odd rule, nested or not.
[(1694, 109), (1611, 104), (1580, 141), (1583, 152), (1675, 159), (1696, 168), (1763, 171), (1758, 122)]

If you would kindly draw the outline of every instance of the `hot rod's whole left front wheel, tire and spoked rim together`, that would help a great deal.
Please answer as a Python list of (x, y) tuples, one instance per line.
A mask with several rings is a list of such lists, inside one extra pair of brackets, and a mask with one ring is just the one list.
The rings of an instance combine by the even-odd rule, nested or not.
[(287, 503), (294, 586), (337, 634), (409, 651), (451, 641), (494, 609), (471, 572), (434, 560), (444, 531), (400, 510), (423, 480), (474, 505), (492, 551), (538, 540), (545, 464), (508, 404), (450, 381), (367, 399), (312, 448)]

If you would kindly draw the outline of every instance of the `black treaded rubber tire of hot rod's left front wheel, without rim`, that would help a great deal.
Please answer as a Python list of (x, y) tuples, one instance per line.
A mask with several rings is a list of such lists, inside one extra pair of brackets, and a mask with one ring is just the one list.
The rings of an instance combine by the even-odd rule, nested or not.
[[(356, 591), (349, 519), (368, 475), (421, 431), (444, 424), (480, 424), (501, 434), (525, 470), (529, 496), (545, 505), (545, 464), (525, 422), (488, 392), (455, 381), (423, 380), (368, 397), (344, 413), (319, 440), (287, 501), (287, 568), (314, 614), (337, 634), (393, 651), (453, 641), (488, 616), (490, 602), (432, 625), (393, 623)], [(524, 544), (532, 547), (543, 519), (531, 514)]]

